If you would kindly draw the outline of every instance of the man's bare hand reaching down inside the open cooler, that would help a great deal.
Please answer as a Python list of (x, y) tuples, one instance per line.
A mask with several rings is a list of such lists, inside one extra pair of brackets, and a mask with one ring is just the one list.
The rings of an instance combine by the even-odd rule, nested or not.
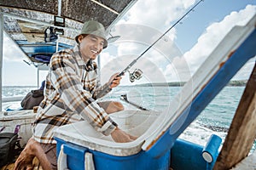
[(111, 133), (111, 137), (115, 142), (118, 142), (118, 143), (131, 142), (137, 139), (137, 137), (134, 137), (131, 134), (125, 133), (124, 131), (119, 129), (119, 127), (116, 127), (113, 133)]

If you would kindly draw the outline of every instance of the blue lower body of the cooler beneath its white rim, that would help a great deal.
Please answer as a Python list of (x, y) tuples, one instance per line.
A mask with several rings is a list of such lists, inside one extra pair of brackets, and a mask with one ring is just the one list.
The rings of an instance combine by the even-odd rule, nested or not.
[(90, 152), (93, 155), (94, 167), (96, 170), (168, 170), (170, 167), (170, 150), (167, 150), (165, 154), (158, 157), (151, 157), (143, 150), (132, 156), (111, 156), (79, 146), (78, 144), (68, 143), (62, 139), (55, 138), (55, 140), (57, 141), (57, 156), (59, 156), (61, 145), (63, 144), (63, 151), (67, 155), (67, 167), (71, 170), (84, 169), (84, 155), (86, 152)]

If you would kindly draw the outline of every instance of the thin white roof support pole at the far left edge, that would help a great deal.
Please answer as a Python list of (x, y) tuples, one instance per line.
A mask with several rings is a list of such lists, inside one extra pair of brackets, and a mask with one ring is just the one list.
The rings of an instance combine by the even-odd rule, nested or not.
[(0, 13), (0, 111), (2, 111), (2, 74), (3, 74), (3, 13)]

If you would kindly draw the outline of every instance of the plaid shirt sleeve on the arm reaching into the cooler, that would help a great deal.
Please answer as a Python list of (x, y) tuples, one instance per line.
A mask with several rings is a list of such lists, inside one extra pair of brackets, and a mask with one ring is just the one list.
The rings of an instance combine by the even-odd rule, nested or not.
[(79, 71), (73, 56), (67, 52), (55, 54), (50, 62), (50, 80), (61, 94), (67, 108), (81, 115), (95, 127), (96, 131), (109, 135), (117, 124), (96, 103), (92, 94), (84, 90)]

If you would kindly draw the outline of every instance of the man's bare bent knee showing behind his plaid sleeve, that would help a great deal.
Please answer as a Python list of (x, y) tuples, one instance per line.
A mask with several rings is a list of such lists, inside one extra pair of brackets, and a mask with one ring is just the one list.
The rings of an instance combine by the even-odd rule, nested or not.
[(124, 106), (118, 101), (103, 101), (99, 102), (98, 105), (100, 105), (108, 114), (124, 111)]

